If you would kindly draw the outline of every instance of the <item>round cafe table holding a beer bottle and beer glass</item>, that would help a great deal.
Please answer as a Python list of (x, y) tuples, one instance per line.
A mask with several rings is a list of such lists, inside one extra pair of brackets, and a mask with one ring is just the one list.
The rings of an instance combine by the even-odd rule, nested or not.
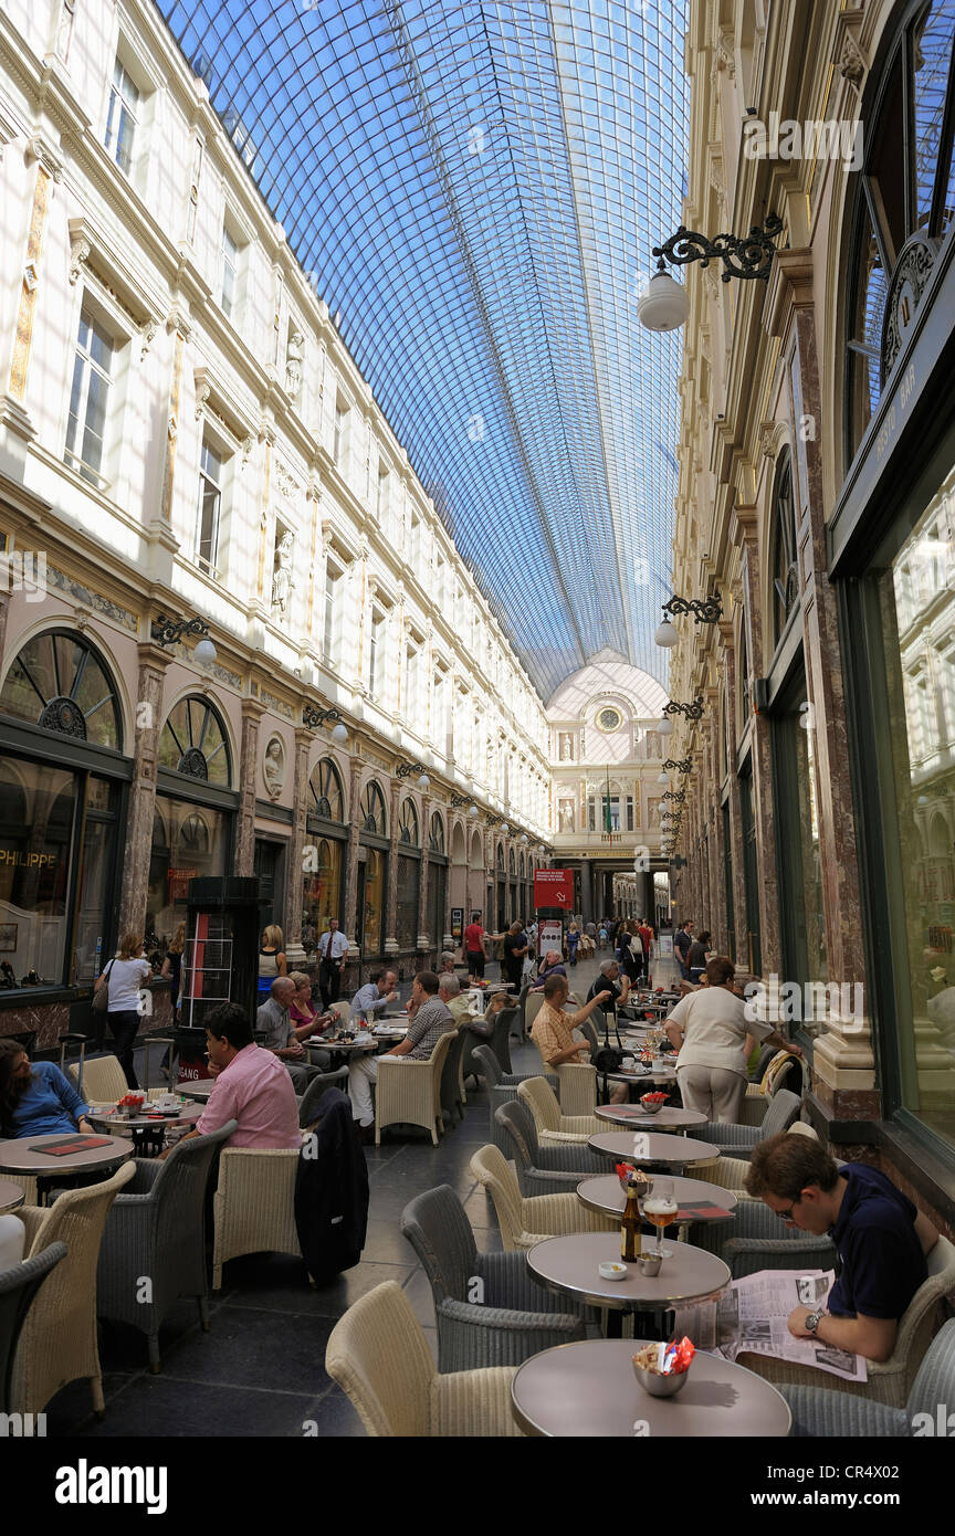
[(608, 1333), (620, 1335), (623, 1312), (666, 1312), (688, 1301), (700, 1301), (729, 1284), (729, 1269), (715, 1253), (677, 1243), (665, 1258), (660, 1273), (642, 1275), (628, 1266), (625, 1279), (603, 1279), (599, 1266), (620, 1263), (617, 1232), (577, 1232), (565, 1238), (545, 1238), (527, 1255), (527, 1264), (548, 1290), (574, 1296), (591, 1307), (608, 1309)]

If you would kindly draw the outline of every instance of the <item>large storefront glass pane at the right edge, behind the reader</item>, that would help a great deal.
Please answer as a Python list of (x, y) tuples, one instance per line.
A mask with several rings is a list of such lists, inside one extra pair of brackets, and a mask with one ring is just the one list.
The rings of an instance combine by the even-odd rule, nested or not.
[(901, 1101), (955, 1143), (955, 470), (880, 579), (910, 1018)]

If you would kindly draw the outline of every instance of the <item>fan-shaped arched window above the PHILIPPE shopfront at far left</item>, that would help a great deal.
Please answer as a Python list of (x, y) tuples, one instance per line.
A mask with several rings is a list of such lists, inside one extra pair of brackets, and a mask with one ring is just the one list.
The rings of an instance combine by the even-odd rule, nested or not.
[(0, 693), (0, 711), (94, 746), (123, 750), (114, 682), (84, 636), (46, 630), (17, 654)]

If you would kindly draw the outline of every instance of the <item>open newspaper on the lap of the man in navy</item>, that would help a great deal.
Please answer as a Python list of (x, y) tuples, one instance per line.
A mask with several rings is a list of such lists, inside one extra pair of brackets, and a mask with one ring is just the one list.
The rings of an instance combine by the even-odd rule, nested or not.
[(788, 1327), (794, 1307), (820, 1306), (829, 1295), (835, 1275), (821, 1269), (765, 1269), (758, 1275), (734, 1279), (720, 1296), (679, 1307), (676, 1338), (689, 1335), (699, 1350), (737, 1359), (739, 1355), (771, 1355), (794, 1366), (814, 1366), (841, 1381), (867, 1381), (863, 1355), (797, 1339)]

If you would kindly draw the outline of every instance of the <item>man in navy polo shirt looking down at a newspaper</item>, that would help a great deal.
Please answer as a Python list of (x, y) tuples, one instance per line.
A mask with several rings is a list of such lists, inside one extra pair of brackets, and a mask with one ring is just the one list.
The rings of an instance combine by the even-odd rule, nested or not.
[(769, 1137), (752, 1152), (746, 1193), (791, 1227), (828, 1232), (838, 1273), (824, 1307), (795, 1307), (789, 1332), (866, 1359), (889, 1359), (898, 1319), (926, 1279), (938, 1232), (895, 1184), (866, 1163), (832, 1161), (818, 1141)]

